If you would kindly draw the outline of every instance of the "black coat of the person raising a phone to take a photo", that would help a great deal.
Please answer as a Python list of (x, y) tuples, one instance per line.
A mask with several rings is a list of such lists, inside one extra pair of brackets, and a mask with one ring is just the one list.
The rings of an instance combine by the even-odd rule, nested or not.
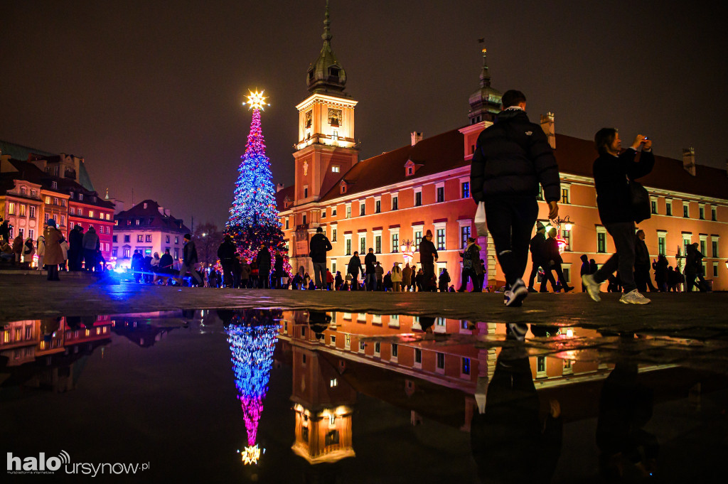
[(602, 154), (594, 162), (596, 205), (602, 223), (632, 222), (628, 178), (635, 180), (652, 171), (652, 151), (642, 151), (635, 162), (637, 151), (628, 149), (620, 156)]

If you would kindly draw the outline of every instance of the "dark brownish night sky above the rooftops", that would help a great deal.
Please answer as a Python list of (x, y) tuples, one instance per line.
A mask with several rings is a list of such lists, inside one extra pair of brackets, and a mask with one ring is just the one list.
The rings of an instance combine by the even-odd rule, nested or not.
[[(293, 183), (325, 0), (0, 2), (0, 139), (86, 159), (95, 188), (223, 226), (250, 125)], [(725, 2), (332, 0), (332, 47), (359, 101), (360, 159), (468, 124), (484, 37), (493, 87), (557, 132), (638, 131), (655, 152), (724, 167)], [(626, 143), (625, 143), (626, 144)], [(593, 160), (585, 160), (591, 163)], [(698, 167), (700, 170), (700, 167)]]

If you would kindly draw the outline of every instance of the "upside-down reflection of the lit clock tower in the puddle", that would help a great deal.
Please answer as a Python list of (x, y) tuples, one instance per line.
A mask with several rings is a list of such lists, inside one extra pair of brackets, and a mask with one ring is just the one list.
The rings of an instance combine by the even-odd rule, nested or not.
[(356, 391), (325, 354), (314, 350), (316, 346), (297, 343), (293, 344), (293, 394), (290, 397), (296, 412), (293, 452), (310, 464), (333, 463), (353, 457), (352, 407), (356, 402)]

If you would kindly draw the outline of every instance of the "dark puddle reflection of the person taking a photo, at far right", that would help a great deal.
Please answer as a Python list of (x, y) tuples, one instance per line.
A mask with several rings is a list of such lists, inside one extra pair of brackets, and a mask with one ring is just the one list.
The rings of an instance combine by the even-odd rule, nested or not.
[(599, 469), (607, 477), (654, 475), (660, 445), (644, 426), (652, 418), (652, 390), (637, 381), (636, 363), (619, 362), (604, 381), (596, 444)]

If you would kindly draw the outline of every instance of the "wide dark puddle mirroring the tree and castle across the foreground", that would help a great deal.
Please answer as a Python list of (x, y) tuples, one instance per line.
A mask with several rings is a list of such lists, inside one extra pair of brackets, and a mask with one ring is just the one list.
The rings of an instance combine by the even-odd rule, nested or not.
[(60, 482), (708, 482), (728, 450), (727, 362), (726, 335), (700, 328), (285, 309), (17, 321), (0, 331), (0, 442), (10, 472), (59, 456), (37, 472)]

